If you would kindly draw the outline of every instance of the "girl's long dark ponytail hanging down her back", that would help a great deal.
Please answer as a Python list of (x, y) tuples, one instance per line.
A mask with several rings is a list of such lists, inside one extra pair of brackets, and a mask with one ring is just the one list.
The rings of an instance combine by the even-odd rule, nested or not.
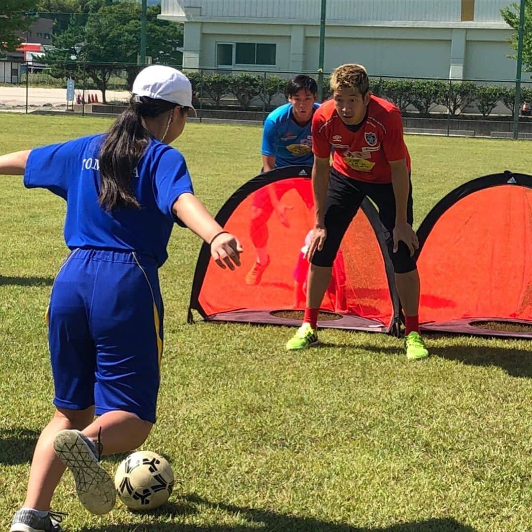
[(99, 153), (101, 186), (98, 202), (106, 211), (140, 204), (131, 188), (135, 168), (151, 138), (142, 118), (153, 118), (177, 104), (147, 96), (132, 96), (128, 108), (114, 122)]

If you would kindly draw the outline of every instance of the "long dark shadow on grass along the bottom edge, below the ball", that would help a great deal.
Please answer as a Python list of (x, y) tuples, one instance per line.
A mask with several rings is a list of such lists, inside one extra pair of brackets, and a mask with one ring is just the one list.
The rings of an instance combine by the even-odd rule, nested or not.
[(314, 518), (305, 518), (280, 514), (270, 510), (234, 506), (231, 504), (207, 501), (196, 495), (182, 497), (179, 503), (167, 504), (148, 515), (154, 518), (180, 517), (199, 513), (198, 506), (207, 506), (235, 514), (250, 521), (249, 525), (180, 525), (179, 523), (122, 523), (99, 528), (83, 528), (84, 532), (475, 532), (474, 528), (465, 526), (452, 518), (413, 521), (381, 528), (360, 528), (343, 523), (331, 523)]

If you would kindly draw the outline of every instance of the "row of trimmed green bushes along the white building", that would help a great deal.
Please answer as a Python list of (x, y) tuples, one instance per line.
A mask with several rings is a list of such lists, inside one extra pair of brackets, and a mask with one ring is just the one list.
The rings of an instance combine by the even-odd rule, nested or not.
[[(224, 96), (233, 95), (240, 109), (249, 109), (256, 99), (270, 109), (273, 99), (284, 95), (287, 79), (278, 76), (260, 76), (258, 74), (206, 74), (187, 72), (192, 82), (194, 100), (210, 98), (215, 106), (220, 106)], [(330, 97), (329, 78), (323, 81), (324, 97)], [(487, 117), (502, 102), (514, 114), (516, 89), (500, 85), (478, 85), (472, 81), (442, 81), (415, 79), (371, 80), (371, 92), (393, 102), (401, 112), (414, 107), (421, 114), (428, 114), (436, 106), (444, 106), (451, 115), (456, 115), (466, 107), (476, 106), (478, 112)], [(532, 101), (532, 86), (521, 86), (521, 103)]]

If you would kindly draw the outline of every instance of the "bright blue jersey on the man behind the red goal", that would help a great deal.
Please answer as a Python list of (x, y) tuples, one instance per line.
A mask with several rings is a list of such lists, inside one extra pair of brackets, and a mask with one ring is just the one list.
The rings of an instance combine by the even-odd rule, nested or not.
[[(320, 105), (315, 103), (314, 110)], [(275, 157), (275, 167), (291, 164), (312, 166), (312, 120), (301, 127), (292, 115), (292, 104), (286, 103), (274, 109), (264, 121), (262, 155)]]

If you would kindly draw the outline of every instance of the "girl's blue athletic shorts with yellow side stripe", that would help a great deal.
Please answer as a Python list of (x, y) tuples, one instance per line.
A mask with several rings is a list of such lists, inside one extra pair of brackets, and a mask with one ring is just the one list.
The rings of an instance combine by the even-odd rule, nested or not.
[(48, 322), (55, 406), (155, 422), (163, 303), (153, 259), (72, 251), (54, 281)]

